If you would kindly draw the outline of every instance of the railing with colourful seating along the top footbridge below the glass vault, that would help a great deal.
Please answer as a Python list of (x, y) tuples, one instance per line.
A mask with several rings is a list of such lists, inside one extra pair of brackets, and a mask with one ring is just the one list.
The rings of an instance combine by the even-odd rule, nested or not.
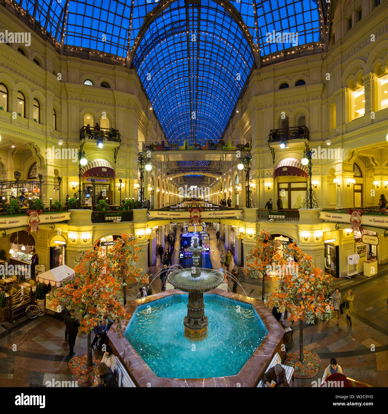
[(180, 144), (177, 142), (171, 142), (167, 140), (150, 141), (150, 142), (139, 142), (139, 151), (251, 151), (251, 142), (238, 141), (219, 141), (213, 142), (207, 140), (203, 145), (198, 142), (191, 142), (191, 140), (183, 140)]

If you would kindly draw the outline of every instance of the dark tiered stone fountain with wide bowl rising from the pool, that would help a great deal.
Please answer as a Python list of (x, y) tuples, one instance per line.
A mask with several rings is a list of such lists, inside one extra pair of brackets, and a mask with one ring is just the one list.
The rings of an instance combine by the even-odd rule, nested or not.
[(193, 253), (193, 267), (171, 272), (167, 280), (176, 289), (188, 292), (187, 315), (183, 318), (183, 325), (190, 335), (198, 335), (206, 332), (208, 324), (203, 294), (217, 287), (222, 282), (223, 275), (215, 270), (199, 267), (199, 257), (205, 249), (198, 246), (198, 236), (193, 239), (193, 247), (187, 249)]

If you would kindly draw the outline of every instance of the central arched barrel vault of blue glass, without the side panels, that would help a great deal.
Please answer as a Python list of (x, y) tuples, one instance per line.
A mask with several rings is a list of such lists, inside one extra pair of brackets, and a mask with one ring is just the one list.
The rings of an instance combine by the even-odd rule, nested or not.
[(242, 30), (215, 2), (173, 3), (133, 58), (169, 142), (220, 139), (254, 58)]

